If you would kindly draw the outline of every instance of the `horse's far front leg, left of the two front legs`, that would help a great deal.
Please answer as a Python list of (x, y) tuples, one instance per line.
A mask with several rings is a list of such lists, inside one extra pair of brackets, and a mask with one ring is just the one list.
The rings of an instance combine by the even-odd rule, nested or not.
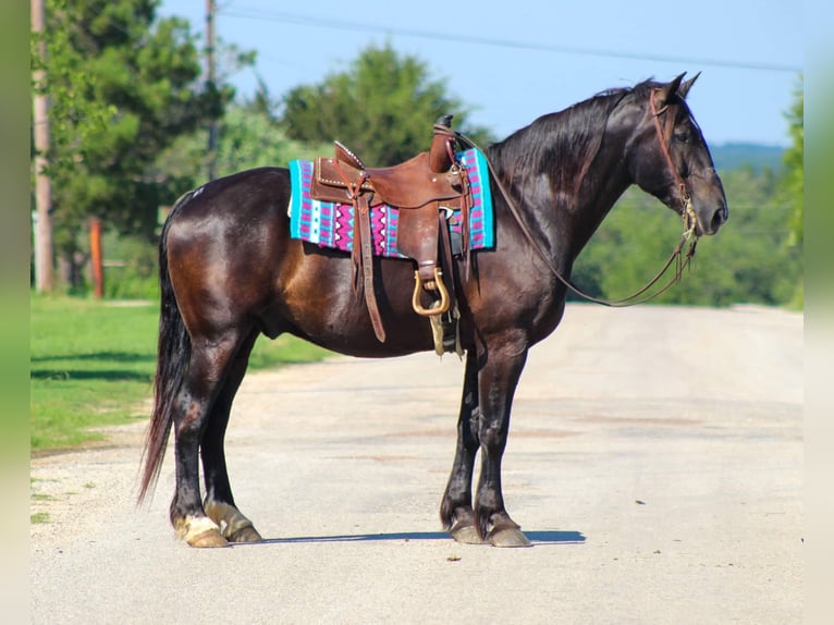
[(440, 504), (443, 529), (457, 542), (483, 543), (475, 527), (473, 511), (473, 471), (478, 453), (478, 358), (474, 351), (466, 355), (464, 391), (457, 419), (457, 446), (452, 474)]

